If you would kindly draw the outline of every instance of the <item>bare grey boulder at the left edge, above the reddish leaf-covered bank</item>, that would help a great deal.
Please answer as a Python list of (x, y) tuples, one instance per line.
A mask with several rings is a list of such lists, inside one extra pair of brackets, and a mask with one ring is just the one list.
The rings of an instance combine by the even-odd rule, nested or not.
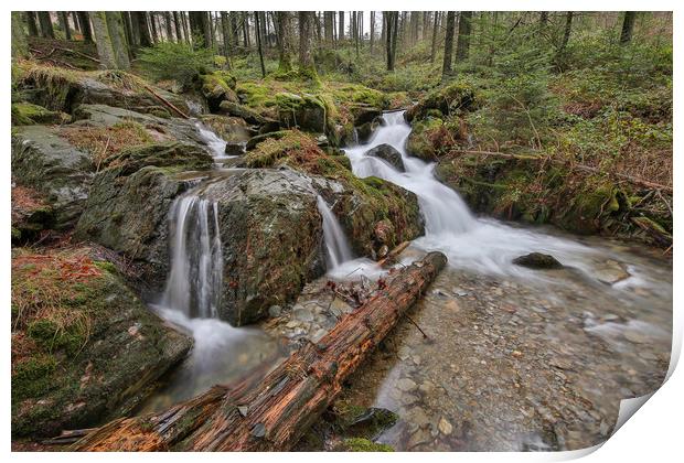
[(90, 154), (60, 133), (60, 128), (46, 126), (12, 129), (12, 176), (44, 197), (55, 228), (63, 229), (83, 212), (95, 165)]

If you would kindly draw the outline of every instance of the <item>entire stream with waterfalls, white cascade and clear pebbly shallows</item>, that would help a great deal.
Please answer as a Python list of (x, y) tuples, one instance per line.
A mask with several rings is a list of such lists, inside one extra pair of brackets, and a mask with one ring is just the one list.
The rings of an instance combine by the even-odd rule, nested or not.
[[(431, 250), (445, 252), (449, 263), (410, 311), (427, 337), (404, 319), (339, 400), (396, 412), (397, 424), (377, 440), (403, 451), (575, 450), (605, 441), (620, 400), (652, 392), (665, 377), (671, 262), (660, 251), (621, 241), (475, 217), (435, 179), (434, 164), (406, 153), (409, 132), (403, 111), (387, 112), (368, 143), (345, 153), (357, 176), (375, 175), (418, 196), (426, 233), (400, 265)], [(225, 154), (212, 142), (221, 164)], [(383, 143), (400, 153), (405, 172), (366, 155)], [(212, 281), (221, 271), (212, 265), (221, 248), (214, 211), (192, 196), (172, 207), (172, 269), (154, 310), (192, 333), (195, 346), (143, 411), (275, 365), (286, 355), (278, 337), (316, 341), (334, 326), (339, 314), (320, 291), (328, 279), (373, 280), (384, 272), (352, 257), (330, 205), (319, 197), (328, 274), (263, 329), (232, 327), (212, 319), (220, 302)], [(189, 228), (194, 232), (183, 232)], [(533, 251), (553, 255), (564, 268), (512, 263)]]

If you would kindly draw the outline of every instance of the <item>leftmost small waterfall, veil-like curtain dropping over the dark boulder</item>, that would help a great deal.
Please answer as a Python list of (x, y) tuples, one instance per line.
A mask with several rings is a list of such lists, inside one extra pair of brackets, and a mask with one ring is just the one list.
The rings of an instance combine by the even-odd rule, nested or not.
[(161, 305), (189, 317), (215, 317), (223, 279), (218, 206), (193, 195), (180, 197), (169, 225), (171, 271)]

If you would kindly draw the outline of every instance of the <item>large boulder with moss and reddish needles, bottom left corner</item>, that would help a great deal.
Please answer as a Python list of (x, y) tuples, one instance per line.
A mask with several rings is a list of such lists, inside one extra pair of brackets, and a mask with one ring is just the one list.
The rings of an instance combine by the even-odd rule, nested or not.
[(50, 437), (129, 413), (192, 340), (90, 250), (12, 256), (12, 435)]

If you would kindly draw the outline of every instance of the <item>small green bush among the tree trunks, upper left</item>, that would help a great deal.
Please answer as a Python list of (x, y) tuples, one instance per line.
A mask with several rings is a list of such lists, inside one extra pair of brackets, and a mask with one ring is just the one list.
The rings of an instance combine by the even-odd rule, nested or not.
[(161, 42), (140, 51), (139, 60), (147, 74), (157, 80), (172, 79), (188, 88), (200, 74), (214, 68), (211, 50), (193, 50), (185, 43)]

